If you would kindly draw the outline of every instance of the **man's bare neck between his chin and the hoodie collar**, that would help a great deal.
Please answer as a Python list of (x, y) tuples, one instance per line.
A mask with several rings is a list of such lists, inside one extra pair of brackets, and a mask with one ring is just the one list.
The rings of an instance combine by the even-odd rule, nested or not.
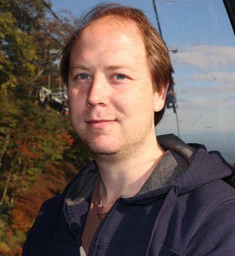
[(154, 137), (146, 140), (135, 155), (119, 161), (95, 158), (100, 174), (100, 199), (103, 204), (113, 203), (119, 196), (136, 195), (162, 158), (164, 150)]

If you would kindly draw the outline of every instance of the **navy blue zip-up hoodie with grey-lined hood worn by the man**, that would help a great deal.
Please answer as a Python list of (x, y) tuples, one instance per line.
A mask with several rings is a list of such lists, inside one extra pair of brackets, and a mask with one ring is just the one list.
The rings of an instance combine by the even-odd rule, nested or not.
[[(158, 141), (165, 150), (177, 144), (176, 162), (177, 156), (185, 158), (191, 152), (185, 158), (187, 167), (161, 187), (159, 173), (153, 171), (136, 196), (118, 198), (97, 228), (89, 256), (235, 255), (235, 190), (227, 183), (234, 168), (203, 145), (166, 137), (158, 136)], [(80, 255), (98, 175), (91, 161), (61, 195), (42, 204), (23, 256)]]

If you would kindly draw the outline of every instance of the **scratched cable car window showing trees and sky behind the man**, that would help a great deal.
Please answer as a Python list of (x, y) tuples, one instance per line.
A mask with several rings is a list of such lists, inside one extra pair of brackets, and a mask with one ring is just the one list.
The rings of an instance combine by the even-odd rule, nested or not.
[[(143, 10), (170, 51), (175, 85), (157, 135), (204, 144), (235, 167), (235, 15), (231, 8), (229, 20), (226, 6), (232, 1), (111, 2)], [(20, 254), (42, 202), (91, 160), (67, 116), (59, 51), (76, 19), (101, 2), (2, 1), (0, 254)]]

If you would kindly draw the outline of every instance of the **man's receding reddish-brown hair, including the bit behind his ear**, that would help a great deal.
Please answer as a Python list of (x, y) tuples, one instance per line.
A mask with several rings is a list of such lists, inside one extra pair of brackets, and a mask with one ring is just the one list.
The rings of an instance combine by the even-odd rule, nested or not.
[[(168, 90), (169, 85), (171, 86), (173, 84), (172, 74), (174, 71), (165, 43), (141, 10), (119, 4), (99, 4), (95, 6), (88, 14), (81, 18), (78, 28), (67, 38), (65, 47), (62, 50), (60, 64), (60, 74), (64, 83), (66, 85), (68, 84), (70, 52), (73, 44), (84, 28), (102, 17), (115, 17), (120, 21), (131, 21), (135, 23), (144, 42), (147, 65), (151, 74), (154, 91), (159, 92), (163, 88)], [(165, 106), (162, 110), (155, 112), (154, 125), (160, 122), (164, 112)]]

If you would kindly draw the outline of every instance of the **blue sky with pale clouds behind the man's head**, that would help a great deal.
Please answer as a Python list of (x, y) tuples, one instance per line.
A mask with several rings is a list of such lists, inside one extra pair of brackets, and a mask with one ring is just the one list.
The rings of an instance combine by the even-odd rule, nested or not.
[[(56, 14), (74, 18), (103, 1), (51, 0)], [(152, 0), (119, 0), (157, 21)], [(222, 0), (156, 0), (163, 39), (171, 53), (180, 137), (219, 150), (235, 164), (235, 36)], [(157, 134), (178, 134), (176, 114), (166, 109)]]

